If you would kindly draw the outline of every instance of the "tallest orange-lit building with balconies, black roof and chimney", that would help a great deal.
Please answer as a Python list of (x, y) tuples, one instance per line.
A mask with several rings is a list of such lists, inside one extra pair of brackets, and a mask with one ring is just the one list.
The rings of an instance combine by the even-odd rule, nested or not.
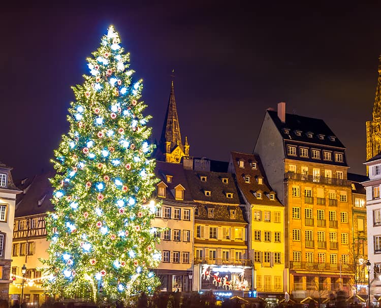
[(285, 206), (285, 267), (296, 298), (352, 294), (352, 182), (345, 147), (321, 119), (267, 110), (255, 152)]

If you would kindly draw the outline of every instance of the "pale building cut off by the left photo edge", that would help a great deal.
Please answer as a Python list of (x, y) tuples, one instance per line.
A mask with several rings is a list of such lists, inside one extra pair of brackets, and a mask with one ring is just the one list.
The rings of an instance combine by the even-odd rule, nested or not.
[(11, 167), (0, 163), (0, 298), (8, 300), (11, 262), (13, 222), (16, 196), (21, 193), (16, 188)]

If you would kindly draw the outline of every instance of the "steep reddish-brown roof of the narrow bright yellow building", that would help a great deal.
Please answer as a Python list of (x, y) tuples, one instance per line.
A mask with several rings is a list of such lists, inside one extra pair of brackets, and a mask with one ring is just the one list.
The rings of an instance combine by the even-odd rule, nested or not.
[[(238, 166), (238, 161), (243, 160), (243, 168)], [(252, 169), (250, 163), (256, 162), (257, 169)], [(236, 172), (236, 180), (238, 187), (244, 194), (246, 200), (250, 204), (263, 204), (263, 205), (278, 205), (283, 206), (275, 195), (275, 200), (269, 199), (269, 193), (273, 192), (267, 181), (265, 170), (262, 167), (261, 159), (258, 155), (252, 155), (241, 152), (231, 152), (231, 164)], [(250, 183), (246, 183), (244, 176), (250, 176)], [(263, 184), (258, 184), (257, 178), (263, 178)], [(257, 191), (262, 191), (262, 199), (257, 199), (253, 193)]]

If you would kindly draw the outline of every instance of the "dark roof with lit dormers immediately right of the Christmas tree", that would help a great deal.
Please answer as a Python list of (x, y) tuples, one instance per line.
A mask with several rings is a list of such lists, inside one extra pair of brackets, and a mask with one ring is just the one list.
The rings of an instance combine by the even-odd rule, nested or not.
[[(166, 185), (168, 186), (166, 198), (159, 198), (159, 199), (175, 200), (174, 189), (178, 184), (181, 184), (181, 186), (185, 189), (183, 202), (186, 202), (186, 203), (193, 202), (192, 194), (190, 193), (190, 189), (188, 187), (188, 183), (186, 180), (186, 176), (185, 176), (184, 168), (182, 164), (156, 161), (155, 174), (161, 181), (166, 183)], [(172, 181), (170, 183), (167, 182), (167, 177), (166, 177), (167, 175), (172, 176)], [(176, 200), (176, 202), (181, 202), (181, 201)]]

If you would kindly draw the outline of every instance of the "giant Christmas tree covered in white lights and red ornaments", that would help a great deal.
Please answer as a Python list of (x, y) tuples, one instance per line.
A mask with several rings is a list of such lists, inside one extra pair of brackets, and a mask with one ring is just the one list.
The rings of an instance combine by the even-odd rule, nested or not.
[(117, 300), (158, 283), (150, 270), (161, 258), (150, 226), (157, 206), (149, 201), (156, 182), (150, 116), (119, 44), (110, 26), (87, 59), (90, 74), (73, 87), (70, 129), (54, 152), (50, 294)]

